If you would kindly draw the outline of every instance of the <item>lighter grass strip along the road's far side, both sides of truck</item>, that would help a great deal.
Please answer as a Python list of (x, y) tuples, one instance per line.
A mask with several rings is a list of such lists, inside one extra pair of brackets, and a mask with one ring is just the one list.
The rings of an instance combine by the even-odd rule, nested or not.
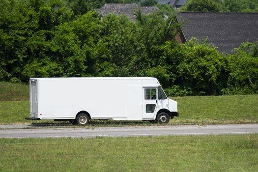
[[(173, 97), (178, 101), (179, 117), (167, 125), (258, 123), (258, 95)], [(28, 121), (29, 101), (0, 101), (0, 123), (46, 123), (68, 125), (53, 120)], [(89, 126), (160, 125), (148, 121), (91, 120)]]

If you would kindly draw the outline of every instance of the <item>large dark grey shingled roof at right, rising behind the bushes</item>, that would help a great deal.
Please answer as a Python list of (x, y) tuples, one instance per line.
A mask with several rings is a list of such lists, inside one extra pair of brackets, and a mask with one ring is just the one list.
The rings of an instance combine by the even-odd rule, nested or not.
[(177, 21), (189, 41), (209, 38), (219, 52), (230, 53), (245, 41), (258, 41), (258, 13), (181, 12)]

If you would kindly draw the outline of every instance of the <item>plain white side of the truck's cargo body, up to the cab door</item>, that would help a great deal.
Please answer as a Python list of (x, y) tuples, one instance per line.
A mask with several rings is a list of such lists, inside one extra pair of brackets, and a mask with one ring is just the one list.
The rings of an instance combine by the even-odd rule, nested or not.
[(92, 119), (142, 119), (142, 80), (40, 80), (39, 83), (41, 119), (75, 118), (80, 111), (87, 111)]

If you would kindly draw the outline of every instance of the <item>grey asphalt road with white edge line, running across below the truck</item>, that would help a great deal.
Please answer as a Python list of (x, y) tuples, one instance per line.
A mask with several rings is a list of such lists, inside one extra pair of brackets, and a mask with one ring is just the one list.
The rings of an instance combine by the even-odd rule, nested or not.
[(0, 138), (91, 138), (258, 133), (258, 124), (1, 129)]

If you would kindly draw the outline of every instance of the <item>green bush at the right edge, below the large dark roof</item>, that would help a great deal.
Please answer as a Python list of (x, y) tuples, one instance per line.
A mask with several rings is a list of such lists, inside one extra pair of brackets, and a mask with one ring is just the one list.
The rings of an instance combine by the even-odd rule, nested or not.
[(224, 94), (258, 93), (258, 43), (243, 43), (229, 56), (229, 80)]

